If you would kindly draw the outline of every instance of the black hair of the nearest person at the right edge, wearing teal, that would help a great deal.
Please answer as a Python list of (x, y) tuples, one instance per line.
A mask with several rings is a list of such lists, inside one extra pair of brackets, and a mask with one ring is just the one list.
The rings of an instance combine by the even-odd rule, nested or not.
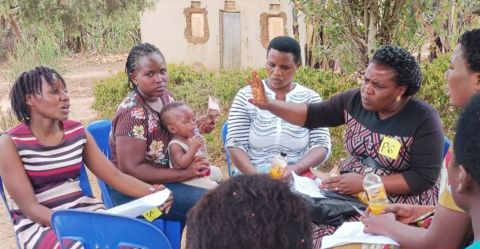
[(480, 184), (480, 94), (474, 95), (457, 121), (453, 154), (455, 165), (462, 165)]

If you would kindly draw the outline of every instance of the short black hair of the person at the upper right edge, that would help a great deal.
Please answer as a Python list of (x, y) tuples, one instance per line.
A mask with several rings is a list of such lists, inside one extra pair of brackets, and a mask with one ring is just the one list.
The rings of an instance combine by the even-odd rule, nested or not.
[(468, 68), (480, 72), (480, 29), (472, 29), (462, 34), (460, 45)]

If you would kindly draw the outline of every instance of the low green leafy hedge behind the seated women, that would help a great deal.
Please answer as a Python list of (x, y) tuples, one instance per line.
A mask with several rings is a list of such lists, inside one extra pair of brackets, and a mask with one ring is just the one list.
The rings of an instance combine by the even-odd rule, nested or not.
[[(229, 108), (236, 93), (247, 86), (245, 78), (250, 75), (251, 69), (236, 72), (223, 69), (208, 71), (202, 68), (199, 71), (194, 71), (193, 67), (184, 64), (169, 64), (167, 68), (170, 74), (168, 89), (173, 93), (176, 100), (187, 103), (196, 114), (205, 114), (209, 95), (222, 102), (223, 110), (218, 116), (220, 125), (213, 133), (206, 135), (206, 142), (208, 154), (213, 163), (225, 166), (221, 127), (227, 121)], [(443, 77), (443, 72), (446, 69), (448, 69), (448, 55), (434, 60), (432, 63), (422, 65), (425, 79), (418, 97), (427, 100), (439, 110), (444, 126), (448, 130), (447, 134), (451, 134), (458, 111), (450, 107), (450, 102), (446, 97), (446, 80)], [(258, 74), (262, 79), (267, 77), (265, 68), (258, 69)], [(300, 67), (293, 80), (298, 81), (303, 86), (312, 88), (324, 100), (336, 93), (361, 86), (357, 79), (309, 67)], [(109, 79), (95, 83), (93, 88), (95, 101), (92, 108), (97, 112), (100, 119), (112, 119), (116, 108), (128, 94), (126, 81), (126, 74), (119, 72), (118, 74), (112, 74)], [(332, 165), (338, 165), (340, 160), (347, 156), (342, 138), (344, 130), (345, 126), (331, 128), (333, 152), (331, 159), (326, 163), (326, 169)]]

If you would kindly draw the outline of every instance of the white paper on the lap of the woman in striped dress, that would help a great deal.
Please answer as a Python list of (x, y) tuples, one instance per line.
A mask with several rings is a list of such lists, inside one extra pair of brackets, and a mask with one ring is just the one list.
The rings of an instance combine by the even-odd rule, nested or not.
[(139, 198), (135, 201), (125, 203), (124, 205), (110, 208), (109, 210), (106, 210), (105, 213), (124, 215), (128, 217), (137, 217), (147, 212), (148, 210), (152, 210), (152, 208), (156, 208), (163, 204), (169, 195), (170, 190), (164, 189), (154, 194), (149, 194), (145, 197)]

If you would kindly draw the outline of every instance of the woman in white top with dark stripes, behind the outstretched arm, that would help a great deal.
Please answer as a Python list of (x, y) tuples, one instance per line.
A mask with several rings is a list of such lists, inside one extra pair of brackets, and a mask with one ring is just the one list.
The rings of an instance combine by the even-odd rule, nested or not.
[[(267, 49), (267, 79), (262, 81), (269, 98), (285, 102), (321, 102), (314, 90), (293, 81), (300, 67), (300, 45), (288, 36), (278, 36)], [(256, 72), (253, 72), (256, 76)], [(244, 174), (267, 172), (275, 156), (288, 154), (289, 164), (281, 179), (292, 180), (310, 167), (324, 163), (331, 154), (328, 128), (309, 130), (287, 123), (271, 112), (248, 103), (250, 86), (237, 93), (228, 117), (227, 147), (229, 156)]]

